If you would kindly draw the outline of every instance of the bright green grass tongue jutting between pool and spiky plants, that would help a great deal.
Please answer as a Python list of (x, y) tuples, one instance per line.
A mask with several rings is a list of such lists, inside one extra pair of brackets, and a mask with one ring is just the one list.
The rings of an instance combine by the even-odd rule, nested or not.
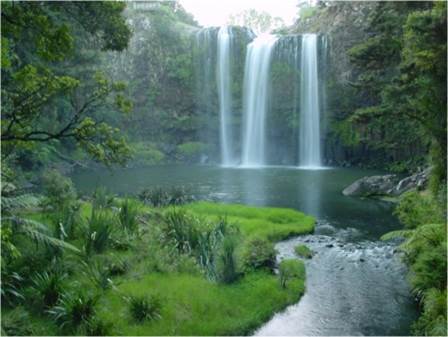
[(196, 202), (183, 206), (192, 213), (209, 220), (227, 217), (247, 237), (258, 236), (279, 241), (294, 235), (312, 233), (315, 219), (288, 208), (250, 207), (237, 204)]

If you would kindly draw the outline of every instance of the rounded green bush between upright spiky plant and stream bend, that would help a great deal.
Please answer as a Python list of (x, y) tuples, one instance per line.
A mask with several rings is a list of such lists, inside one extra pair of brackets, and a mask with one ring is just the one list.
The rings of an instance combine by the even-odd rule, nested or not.
[(266, 239), (251, 238), (244, 247), (242, 261), (246, 270), (266, 268), (273, 270), (276, 251), (274, 244)]

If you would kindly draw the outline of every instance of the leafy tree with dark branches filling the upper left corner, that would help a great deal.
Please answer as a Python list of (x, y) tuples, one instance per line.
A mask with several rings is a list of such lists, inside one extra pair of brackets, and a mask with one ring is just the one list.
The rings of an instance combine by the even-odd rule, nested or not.
[[(2, 148), (74, 139), (95, 159), (123, 163), (130, 149), (104, 111), (130, 112), (122, 83), (77, 73), (81, 55), (123, 50), (121, 2), (2, 4)], [(78, 68), (79, 69), (79, 68)]]

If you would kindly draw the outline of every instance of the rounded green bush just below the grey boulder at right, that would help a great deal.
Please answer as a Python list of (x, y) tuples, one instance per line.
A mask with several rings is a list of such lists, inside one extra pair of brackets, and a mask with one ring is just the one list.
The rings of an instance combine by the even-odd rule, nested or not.
[(394, 213), (406, 228), (416, 228), (421, 224), (443, 222), (444, 208), (432, 196), (412, 191), (403, 196)]

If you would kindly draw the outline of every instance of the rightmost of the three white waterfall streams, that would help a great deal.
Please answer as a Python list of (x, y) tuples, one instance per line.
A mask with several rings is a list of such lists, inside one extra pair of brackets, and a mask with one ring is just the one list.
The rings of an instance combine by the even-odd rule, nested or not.
[(316, 34), (304, 34), (302, 36), (300, 68), (299, 166), (319, 168), (322, 163)]

